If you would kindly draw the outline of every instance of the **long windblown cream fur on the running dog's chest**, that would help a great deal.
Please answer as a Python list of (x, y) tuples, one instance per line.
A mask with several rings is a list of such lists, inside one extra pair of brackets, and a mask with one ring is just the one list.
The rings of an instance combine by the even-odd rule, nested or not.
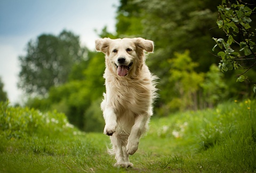
[[(114, 78), (114, 79), (113, 79)], [(148, 111), (151, 101), (150, 79), (118, 80), (116, 77), (106, 78), (108, 102), (113, 104), (117, 114), (124, 114), (131, 110), (134, 114), (142, 114)]]

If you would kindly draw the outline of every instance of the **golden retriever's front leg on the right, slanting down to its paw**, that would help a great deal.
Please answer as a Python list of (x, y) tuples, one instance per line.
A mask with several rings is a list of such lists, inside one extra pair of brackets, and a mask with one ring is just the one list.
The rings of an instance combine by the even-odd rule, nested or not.
[(146, 124), (148, 123), (147, 114), (141, 114), (135, 118), (134, 125), (132, 126), (131, 134), (128, 138), (128, 143), (126, 145), (126, 151), (128, 154), (134, 154), (138, 150), (138, 145), (140, 141), (140, 136), (146, 129)]

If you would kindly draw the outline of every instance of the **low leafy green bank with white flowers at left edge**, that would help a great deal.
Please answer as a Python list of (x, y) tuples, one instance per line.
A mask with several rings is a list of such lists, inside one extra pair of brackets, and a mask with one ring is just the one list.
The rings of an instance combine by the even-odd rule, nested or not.
[(13, 108), (8, 102), (0, 103), (1, 137), (27, 138), (29, 136), (53, 136), (76, 131), (63, 113), (42, 113), (35, 109)]

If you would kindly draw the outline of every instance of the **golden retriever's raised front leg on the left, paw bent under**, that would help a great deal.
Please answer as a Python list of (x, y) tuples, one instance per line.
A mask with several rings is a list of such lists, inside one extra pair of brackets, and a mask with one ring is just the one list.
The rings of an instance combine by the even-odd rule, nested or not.
[(114, 109), (111, 107), (105, 108), (103, 112), (103, 117), (106, 123), (103, 133), (105, 135), (111, 136), (113, 135), (113, 133), (115, 133), (117, 126), (116, 114), (114, 112)]

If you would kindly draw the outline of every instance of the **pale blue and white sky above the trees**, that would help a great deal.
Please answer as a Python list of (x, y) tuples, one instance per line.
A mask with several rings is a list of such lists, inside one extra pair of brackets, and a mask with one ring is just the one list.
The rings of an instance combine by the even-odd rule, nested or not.
[(118, 5), (118, 0), (0, 0), (0, 77), (11, 104), (24, 98), (17, 88), (18, 57), (26, 55), (29, 40), (66, 29), (94, 50), (95, 29), (100, 32), (107, 26), (115, 32)]

